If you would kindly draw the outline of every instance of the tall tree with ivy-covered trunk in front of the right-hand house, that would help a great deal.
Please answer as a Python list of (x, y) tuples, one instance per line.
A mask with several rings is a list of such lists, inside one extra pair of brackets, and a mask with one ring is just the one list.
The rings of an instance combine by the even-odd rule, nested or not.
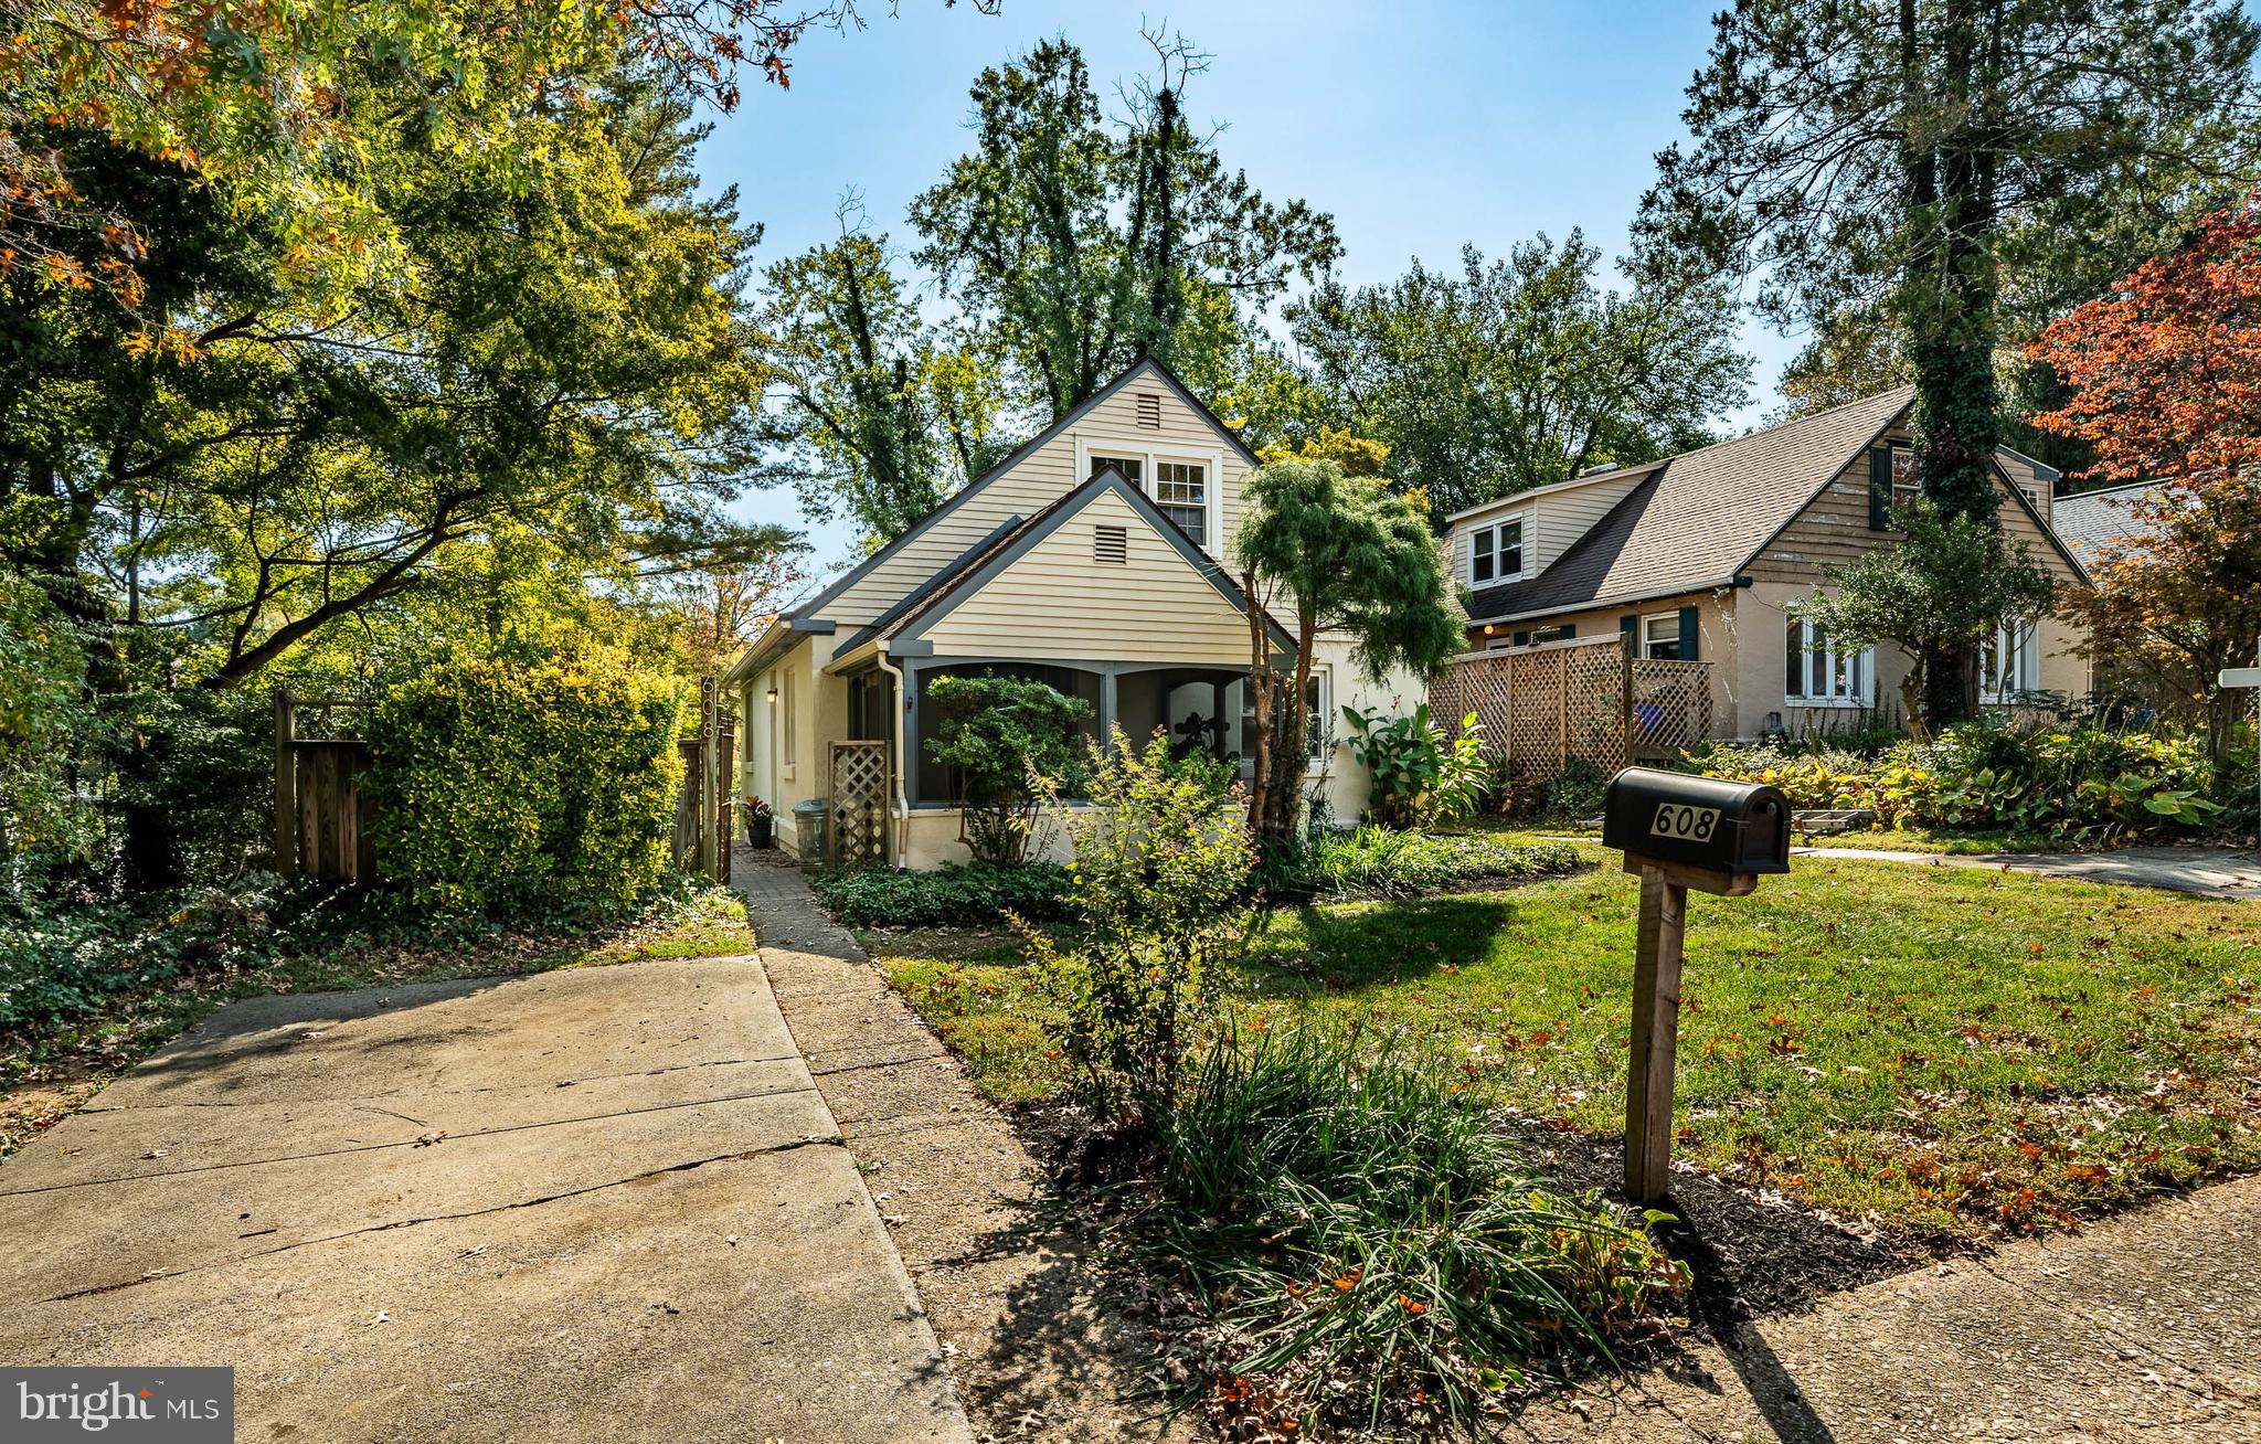
[[(2087, 276), (2143, 233), (2103, 224), (2123, 192), (2191, 215), (2250, 176), (2256, 38), (2232, 0), (1736, 0), (1644, 226), (1759, 271), (1782, 321), (1890, 305), (1924, 495), (1987, 522), (2006, 255)], [(1976, 646), (1929, 662), (1933, 721), (1969, 714)]]

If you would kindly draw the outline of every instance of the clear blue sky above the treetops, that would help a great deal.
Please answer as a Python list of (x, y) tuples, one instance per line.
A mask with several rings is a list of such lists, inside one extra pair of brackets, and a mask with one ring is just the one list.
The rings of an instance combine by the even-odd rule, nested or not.
[[(794, 50), (794, 84), (751, 88), (717, 120), (701, 169), (737, 185), (766, 235), (766, 264), (837, 233), (855, 190), (875, 230), (909, 246), (904, 206), (965, 151), (968, 86), (984, 66), (1065, 34), (1110, 88), (1151, 52), (1140, 27), (1169, 25), (1210, 52), (1187, 88), (1196, 120), (1225, 122), (1219, 149), (1266, 197), (1329, 210), (1339, 273), (1388, 280), (1415, 255), (1452, 264), (1463, 242), (1506, 251), (1583, 226), (1617, 255), (1657, 149), (1680, 138), (1689, 75), (1712, 36), (1707, 0), (1210, 0), (1162, 9), (1110, 0), (1004, 0), (997, 16), (941, 0), (861, 0), (864, 29), (816, 32)], [(1759, 359), (1741, 429), (1775, 405), (1797, 350), (1748, 321)], [(748, 517), (805, 527), (789, 493), (755, 493)], [(821, 560), (846, 533), (812, 527)]]

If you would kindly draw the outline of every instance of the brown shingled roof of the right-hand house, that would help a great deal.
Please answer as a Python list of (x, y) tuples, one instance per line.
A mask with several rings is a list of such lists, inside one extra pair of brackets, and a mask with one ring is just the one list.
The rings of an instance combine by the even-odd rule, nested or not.
[(1467, 615), (1490, 621), (1730, 585), (1913, 400), (1915, 389), (1899, 386), (1666, 456), (1544, 572), (1483, 588)]

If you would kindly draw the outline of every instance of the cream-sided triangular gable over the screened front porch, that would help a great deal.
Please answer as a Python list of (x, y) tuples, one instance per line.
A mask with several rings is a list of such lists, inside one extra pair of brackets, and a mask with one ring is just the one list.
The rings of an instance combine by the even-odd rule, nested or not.
[[(1097, 560), (1099, 527), (1121, 560)], [(1112, 540), (1106, 538), (1112, 558)], [(1293, 637), (1266, 617), (1273, 644)], [(1144, 490), (1106, 470), (904, 617), (889, 651), (1246, 664), (1246, 594)]]

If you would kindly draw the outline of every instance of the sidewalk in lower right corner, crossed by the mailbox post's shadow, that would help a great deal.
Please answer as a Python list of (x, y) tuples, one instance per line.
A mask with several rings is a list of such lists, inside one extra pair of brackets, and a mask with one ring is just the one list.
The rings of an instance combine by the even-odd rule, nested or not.
[(2261, 1177), (1698, 1342), (1528, 1410), (1528, 1439), (2261, 1439)]

